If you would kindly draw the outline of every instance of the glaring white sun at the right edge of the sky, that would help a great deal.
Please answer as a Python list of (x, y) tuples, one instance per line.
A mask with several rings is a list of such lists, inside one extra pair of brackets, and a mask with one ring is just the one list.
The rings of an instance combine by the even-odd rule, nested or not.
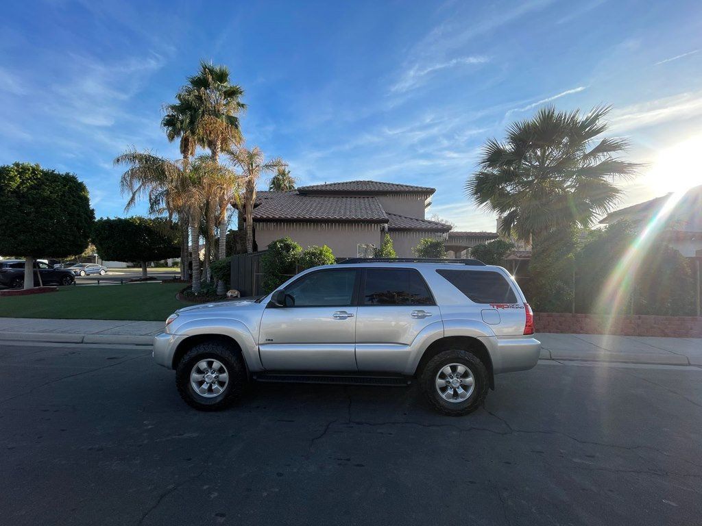
[(648, 186), (656, 195), (662, 195), (702, 184), (702, 165), (697, 160), (701, 151), (702, 135), (661, 150), (645, 176)]

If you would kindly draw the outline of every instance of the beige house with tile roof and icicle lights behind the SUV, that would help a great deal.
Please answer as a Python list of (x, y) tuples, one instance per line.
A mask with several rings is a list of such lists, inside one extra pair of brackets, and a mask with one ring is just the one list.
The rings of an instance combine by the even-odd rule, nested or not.
[[(397, 256), (413, 257), (412, 249), (421, 238), (448, 243), (451, 236), (450, 225), (425, 219), (434, 192), (430, 187), (377, 181), (260, 191), (253, 208), (254, 239), (259, 250), (290, 236), (303, 247), (329, 245), (336, 257), (371, 257), (388, 232)], [(475, 234), (470, 239), (463, 236), (463, 245), (497, 237), (494, 233), (461, 234)]]

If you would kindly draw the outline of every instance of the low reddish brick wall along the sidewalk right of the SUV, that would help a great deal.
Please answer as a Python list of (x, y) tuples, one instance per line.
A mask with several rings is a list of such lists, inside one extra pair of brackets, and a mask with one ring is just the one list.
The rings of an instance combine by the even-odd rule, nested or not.
[[(536, 332), (591, 335), (665, 336), (702, 338), (702, 318), (697, 316), (598, 316), (541, 312), (534, 314)], [(609, 330), (607, 326), (611, 323)]]

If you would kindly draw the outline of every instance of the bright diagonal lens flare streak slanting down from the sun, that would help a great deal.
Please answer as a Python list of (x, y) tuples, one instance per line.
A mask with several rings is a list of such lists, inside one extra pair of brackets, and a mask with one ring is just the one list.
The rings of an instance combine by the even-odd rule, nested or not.
[(609, 316), (605, 334), (611, 333), (616, 315), (621, 312), (624, 302), (631, 295), (637, 271), (642, 264), (649, 261), (648, 255), (651, 245), (656, 236), (665, 227), (670, 213), (675, 210), (677, 203), (680, 202), (684, 195), (684, 191), (678, 191), (670, 195), (661, 209), (651, 217), (646, 227), (631, 243), (604, 283), (602, 292), (600, 292), (597, 302), (595, 302), (595, 311)]

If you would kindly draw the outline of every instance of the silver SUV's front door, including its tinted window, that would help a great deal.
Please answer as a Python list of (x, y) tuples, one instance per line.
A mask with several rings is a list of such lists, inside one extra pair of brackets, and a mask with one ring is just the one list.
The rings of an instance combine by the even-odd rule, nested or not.
[(355, 372), (357, 269), (322, 269), (285, 288), (285, 306), (267, 306), (258, 338), (269, 371)]

